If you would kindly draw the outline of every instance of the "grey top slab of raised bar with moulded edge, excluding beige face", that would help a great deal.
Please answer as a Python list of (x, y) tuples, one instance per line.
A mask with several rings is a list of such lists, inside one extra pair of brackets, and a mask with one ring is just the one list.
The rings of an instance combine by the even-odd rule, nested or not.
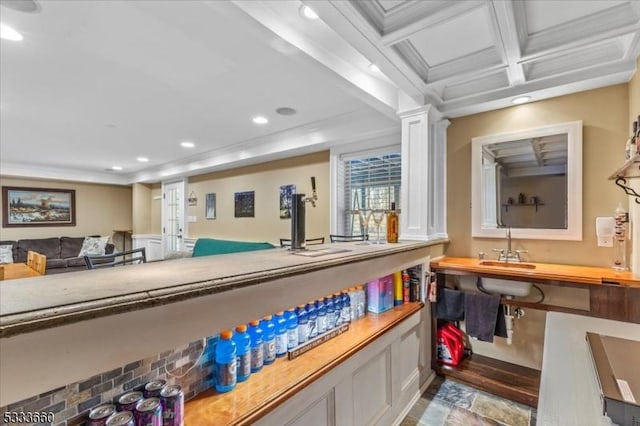
[(11, 280), (0, 285), (0, 337), (357, 265), (441, 242), (340, 243), (309, 249), (344, 250), (319, 257), (276, 248)]

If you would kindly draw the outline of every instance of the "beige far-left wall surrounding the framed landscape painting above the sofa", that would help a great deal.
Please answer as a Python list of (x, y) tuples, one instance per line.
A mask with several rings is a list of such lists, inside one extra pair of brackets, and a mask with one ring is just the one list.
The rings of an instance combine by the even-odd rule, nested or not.
[[(131, 229), (131, 188), (128, 186), (0, 176), (3, 186), (76, 190), (76, 226), (2, 228), (3, 240), (46, 237), (113, 235), (114, 229)], [(1, 213), (0, 213), (1, 215)], [(117, 237), (118, 246), (121, 236)]]

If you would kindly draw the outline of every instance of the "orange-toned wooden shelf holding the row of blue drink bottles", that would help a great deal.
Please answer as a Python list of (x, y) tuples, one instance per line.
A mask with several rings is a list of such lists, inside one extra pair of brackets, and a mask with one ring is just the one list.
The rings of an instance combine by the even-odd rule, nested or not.
[(206, 391), (185, 404), (185, 425), (250, 425), (380, 335), (418, 312), (422, 303), (367, 314), (349, 330), (291, 361), (277, 359), (227, 393)]

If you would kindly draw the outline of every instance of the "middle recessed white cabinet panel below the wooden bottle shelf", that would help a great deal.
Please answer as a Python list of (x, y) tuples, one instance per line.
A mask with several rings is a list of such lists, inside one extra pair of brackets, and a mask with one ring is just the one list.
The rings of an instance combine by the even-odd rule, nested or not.
[(375, 423), (391, 407), (391, 363), (387, 347), (353, 374), (356, 426)]

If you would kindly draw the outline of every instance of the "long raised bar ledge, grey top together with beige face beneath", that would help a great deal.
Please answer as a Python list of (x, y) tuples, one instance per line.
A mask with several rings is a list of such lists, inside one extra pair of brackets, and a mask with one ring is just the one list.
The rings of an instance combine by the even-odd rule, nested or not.
[(274, 248), (0, 282), (0, 406), (424, 265), (443, 243)]

